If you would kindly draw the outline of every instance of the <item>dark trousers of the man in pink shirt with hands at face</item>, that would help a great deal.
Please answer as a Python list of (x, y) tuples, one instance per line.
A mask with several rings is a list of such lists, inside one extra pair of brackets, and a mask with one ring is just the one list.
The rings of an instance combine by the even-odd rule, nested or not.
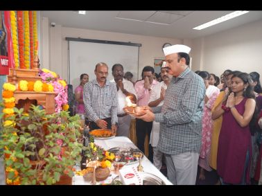
[[(141, 119), (136, 119), (136, 134), (137, 134), (137, 147), (145, 153), (144, 145), (146, 134), (148, 134), (148, 143), (150, 141), (150, 134), (152, 130), (152, 122), (146, 122)], [(148, 159), (153, 162), (152, 146), (148, 144)]]

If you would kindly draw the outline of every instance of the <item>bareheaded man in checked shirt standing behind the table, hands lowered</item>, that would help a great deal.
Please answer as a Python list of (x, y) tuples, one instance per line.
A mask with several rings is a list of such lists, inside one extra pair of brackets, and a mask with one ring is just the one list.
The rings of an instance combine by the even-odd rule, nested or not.
[(112, 129), (117, 127), (116, 84), (107, 81), (108, 66), (104, 62), (96, 64), (96, 79), (87, 82), (83, 90), (83, 101), (89, 118), (90, 130)]

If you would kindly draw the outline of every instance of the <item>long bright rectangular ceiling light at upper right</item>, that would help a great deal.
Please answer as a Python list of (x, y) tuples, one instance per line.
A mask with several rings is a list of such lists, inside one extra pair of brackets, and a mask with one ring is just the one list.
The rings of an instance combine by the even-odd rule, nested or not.
[(243, 14), (245, 14), (245, 13), (247, 13), (247, 12), (250, 12), (250, 11), (236, 11), (236, 12), (232, 12), (232, 13), (230, 13), (230, 14), (228, 14), (228, 15), (225, 15), (225, 16), (222, 16), (222, 17), (220, 17), (220, 18), (218, 18), (218, 19), (214, 19), (214, 20), (209, 21), (209, 22), (207, 22), (207, 23), (205, 23), (205, 24), (202, 24), (202, 25), (200, 25), (200, 26), (196, 26), (196, 27), (193, 28), (193, 29), (195, 29), (195, 30), (201, 30), (201, 29), (203, 29), (203, 28), (207, 28), (207, 27), (209, 27), (209, 26), (213, 26), (213, 25), (215, 25), (215, 24), (218, 24), (218, 23), (220, 23), (220, 22), (222, 22), (222, 21), (227, 21), (227, 20), (232, 19), (232, 18), (234, 18), (234, 17), (238, 17), (238, 16), (243, 15)]

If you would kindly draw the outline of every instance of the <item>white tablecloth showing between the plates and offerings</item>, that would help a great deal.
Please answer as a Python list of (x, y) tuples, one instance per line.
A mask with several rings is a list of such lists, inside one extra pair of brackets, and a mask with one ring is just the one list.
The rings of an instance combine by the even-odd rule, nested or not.
[[(130, 141), (130, 139), (124, 136), (117, 136), (117, 137), (114, 137), (113, 139), (108, 139), (108, 140), (96, 140), (95, 139), (94, 143), (96, 143), (96, 145), (100, 145), (105, 150), (108, 150), (114, 147), (137, 148), (136, 145), (134, 145), (134, 143)], [(125, 167), (137, 168), (138, 165), (139, 163), (134, 163), (128, 166), (126, 165)], [(157, 170), (157, 168), (148, 160), (146, 156), (143, 157), (141, 161), (141, 165), (143, 166), (144, 172), (148, 172), (153, 175), (156, 175), (157, 177), (162, 179), (166, 185), (172, 185), (171, 181), (169, 181), (159, 170)], [(116, 177), (116, 175), (113, 174), (111, 177), (108, 177), (107, 180), (104, 181), (104, 183), (110, 183), (112, 179), (114, 179), (114, 177)], [(73, 177), (73, 184), (84, 185), (84, 184), (90, 184), (90, 182), (85, 181), (82, 176), (75, 175)], [(101, 182), (97, 184), (101, 184)]]

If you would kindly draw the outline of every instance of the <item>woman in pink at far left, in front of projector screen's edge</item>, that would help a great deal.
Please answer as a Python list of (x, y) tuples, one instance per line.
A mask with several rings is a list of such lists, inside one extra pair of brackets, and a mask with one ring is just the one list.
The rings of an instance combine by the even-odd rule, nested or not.
[(76, 99), (76, 114), (85, 114), (85, 105), (82, 100), (82, 91), (85, 83), (89, 80), (89, 75), (87, 73), (82, 73), (80, 75), (80, 84), (75, 89), (75, 99)]

